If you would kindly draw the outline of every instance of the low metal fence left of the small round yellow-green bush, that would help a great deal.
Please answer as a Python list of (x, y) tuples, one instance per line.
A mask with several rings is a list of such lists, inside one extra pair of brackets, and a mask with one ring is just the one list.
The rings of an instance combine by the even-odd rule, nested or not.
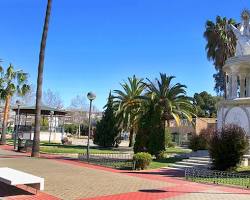
[(83, 162), (89, 162), (116, 169), (135, 168), (135, 163), (133, 162), (133, 156), (130, 154), (120, 154), (120, 153), (90, 154), (88, 160), (87, 154), (82, 153), (78, 154), (78, 159)]

